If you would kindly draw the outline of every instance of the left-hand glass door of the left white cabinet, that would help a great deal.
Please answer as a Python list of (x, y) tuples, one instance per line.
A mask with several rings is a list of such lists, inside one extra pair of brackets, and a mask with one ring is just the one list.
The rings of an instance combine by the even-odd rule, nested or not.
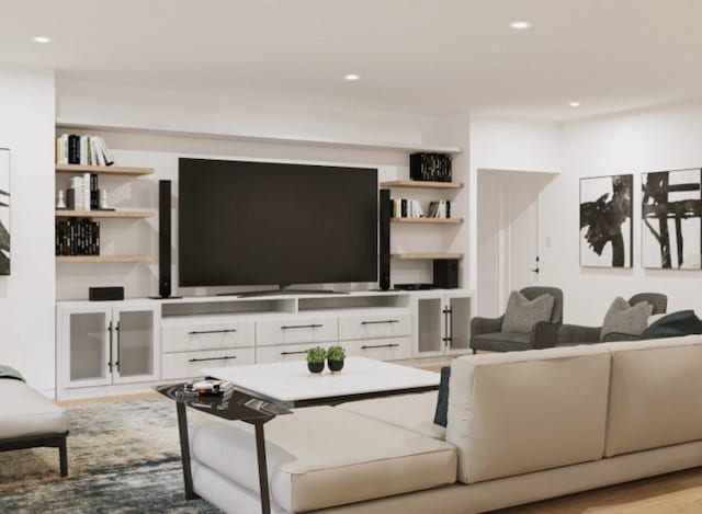
[(107, 385), (112, 381), (107, 311), (67, 313), (68, 352), (65, 387)]

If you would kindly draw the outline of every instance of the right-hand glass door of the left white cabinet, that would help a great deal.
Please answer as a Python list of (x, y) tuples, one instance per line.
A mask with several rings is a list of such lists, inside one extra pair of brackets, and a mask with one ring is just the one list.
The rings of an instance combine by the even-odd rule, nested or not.
[(155, 309), (149, 307), (115, 309), (113, 323), (114, 382), (157, 379)]

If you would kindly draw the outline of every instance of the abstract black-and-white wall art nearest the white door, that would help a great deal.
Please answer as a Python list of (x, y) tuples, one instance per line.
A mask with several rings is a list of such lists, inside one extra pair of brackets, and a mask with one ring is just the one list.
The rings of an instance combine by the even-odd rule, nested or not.
[(580, 179), (580, 265), (632, 267), (634, 175)]

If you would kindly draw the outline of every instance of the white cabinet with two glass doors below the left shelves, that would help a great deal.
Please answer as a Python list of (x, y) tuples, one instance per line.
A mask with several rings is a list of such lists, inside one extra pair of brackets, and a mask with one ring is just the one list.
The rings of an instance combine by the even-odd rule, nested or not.
[(159, 320), (154, 301), (59, 302), (58, 389), (158, 380)]

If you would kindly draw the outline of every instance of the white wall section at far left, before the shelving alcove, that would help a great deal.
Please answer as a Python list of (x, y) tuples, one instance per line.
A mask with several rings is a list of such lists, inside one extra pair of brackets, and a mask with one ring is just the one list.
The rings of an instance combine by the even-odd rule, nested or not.
[(55, 387), (54, 72), (0, 66), (0, 147), (11, 150), (11, 275), (0, 277), (0, 363)]

